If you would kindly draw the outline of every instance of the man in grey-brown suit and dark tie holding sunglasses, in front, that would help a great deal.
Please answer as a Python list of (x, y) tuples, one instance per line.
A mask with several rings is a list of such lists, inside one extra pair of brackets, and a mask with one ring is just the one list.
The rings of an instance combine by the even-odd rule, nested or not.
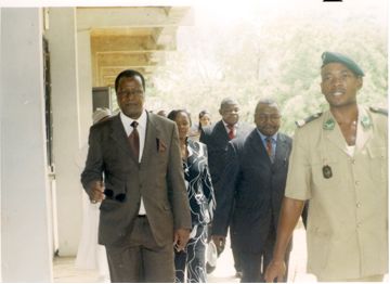
[(100, 206), (99, 243), (112, 282), (173, 282), (173, 245), (185, 247), (188, 198), (177, 126), (144, 109), (145, 80), (115, 80), (120, 113), (90, 129), (81, 182)]

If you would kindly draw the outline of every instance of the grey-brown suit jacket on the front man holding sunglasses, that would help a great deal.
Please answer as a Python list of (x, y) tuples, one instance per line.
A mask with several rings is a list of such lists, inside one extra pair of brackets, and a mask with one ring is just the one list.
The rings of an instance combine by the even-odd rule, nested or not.
[(134, 157), (119, 115), (90, 129), (81, 182), (103, 180), (106, 198), (100, 207), (99, 243), (118, 245), (131, 232), (143, 197), (158, 245), (173, 242), (173, 230), (191, 229), (177, 126), (147, 113), (142, 160)]

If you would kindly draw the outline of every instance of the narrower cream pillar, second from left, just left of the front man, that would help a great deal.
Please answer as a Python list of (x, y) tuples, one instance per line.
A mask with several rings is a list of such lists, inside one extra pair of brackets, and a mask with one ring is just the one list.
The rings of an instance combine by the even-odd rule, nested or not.
[(75, 256), (81, 228), (81, 190), (75, 157), (80, 149), (76, 9), (51, 8), (47, 33), (53, 108), (58, 253)]

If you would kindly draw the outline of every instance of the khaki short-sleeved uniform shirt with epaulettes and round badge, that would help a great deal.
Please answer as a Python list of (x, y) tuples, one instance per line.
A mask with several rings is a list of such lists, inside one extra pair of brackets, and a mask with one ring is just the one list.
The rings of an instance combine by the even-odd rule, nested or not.
[(320, 280), (388, 271), (387, 116), (359, 107), (356, 132), (351, 156), (327, 111), (294, 138), (285, 195), (310, 199), (308, 272)]

